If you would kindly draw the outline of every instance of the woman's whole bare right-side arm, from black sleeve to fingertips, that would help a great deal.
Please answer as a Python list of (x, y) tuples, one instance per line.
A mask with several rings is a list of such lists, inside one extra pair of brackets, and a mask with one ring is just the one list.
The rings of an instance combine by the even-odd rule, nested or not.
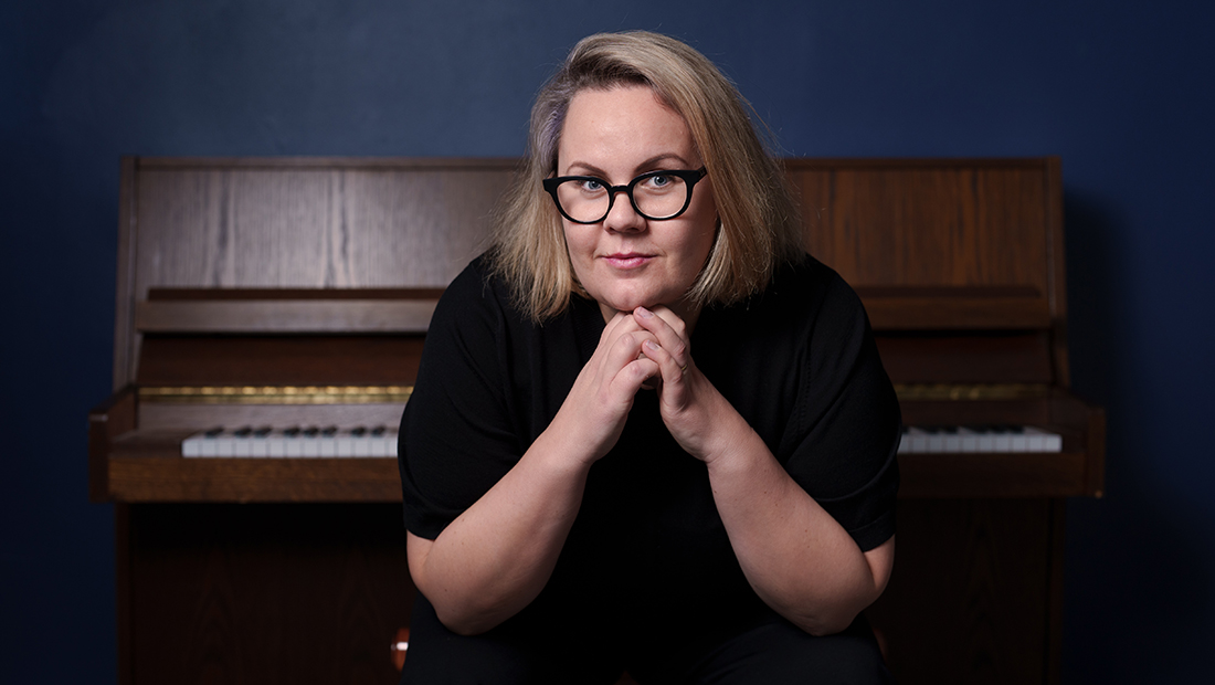
[(808, 633), (847, 628), (885, 589), (894, 539), (861, 553), (695, 368), (683, 322), (666, 308), (649, 313), (635, 316), (656, 338), (643, 352), (661, 370), (663, 421), (685, 451), (706, 463), (717, 510), (751, 587)]

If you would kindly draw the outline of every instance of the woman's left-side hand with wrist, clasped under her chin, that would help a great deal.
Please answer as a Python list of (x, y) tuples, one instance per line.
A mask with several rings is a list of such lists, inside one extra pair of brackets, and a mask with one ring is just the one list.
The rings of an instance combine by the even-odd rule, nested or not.
[(659, 364), (642, 346), (655, 342), (631, 312), (617, 312), (604, 327), (590, 361), (561, 403), (546, 432), (565, 441), (566, 453), (589, 466), (620, 440), (633, 407), (633, 396), (648, 379), (659, 375)]

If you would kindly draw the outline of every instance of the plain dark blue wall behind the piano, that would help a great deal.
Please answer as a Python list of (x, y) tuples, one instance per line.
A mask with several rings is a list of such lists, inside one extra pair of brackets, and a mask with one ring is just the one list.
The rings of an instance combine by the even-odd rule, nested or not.
[(85, 415), (111, 387), (119, 155), (516, 155), (569, 47), (626, 28), (717, 61), (787, 154), (1062, 155), (1074, 386), (1109, 415), (1108, 494), (1069, 508), (1066, 678), (1203, 679), (1211, 7), (4, 4), (0, 681), (114, 678), (113, 509), (86, 502)]

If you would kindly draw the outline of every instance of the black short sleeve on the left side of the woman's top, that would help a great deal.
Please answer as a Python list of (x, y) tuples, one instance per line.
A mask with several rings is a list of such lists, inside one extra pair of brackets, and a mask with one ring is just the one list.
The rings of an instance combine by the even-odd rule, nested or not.
[(518, 462), (504, 378), (502, 299), (469, 265), (435, 308), (413, 394), (401, 418), (397, 464), (405, 525), (434, 539)]

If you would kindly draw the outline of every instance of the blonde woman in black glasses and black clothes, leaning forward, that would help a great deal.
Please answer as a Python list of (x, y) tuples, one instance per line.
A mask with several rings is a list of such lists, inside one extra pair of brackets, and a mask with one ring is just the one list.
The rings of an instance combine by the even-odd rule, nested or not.
[(496, 230), (402, 420), (405, 681), (882, 680), (898, 404), (738, 91), (584, 39)]

